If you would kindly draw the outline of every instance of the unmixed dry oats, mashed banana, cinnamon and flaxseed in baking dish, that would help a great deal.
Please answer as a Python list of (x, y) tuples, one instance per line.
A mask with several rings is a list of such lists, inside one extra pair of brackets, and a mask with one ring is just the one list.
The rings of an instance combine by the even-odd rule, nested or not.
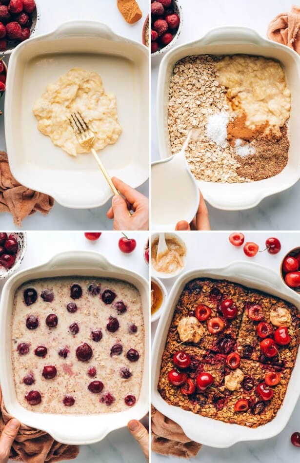
[(198, 130), (186, 157), (199, 180), (242, 183), (279, 174), (288, 160), (290, 90), (273, 59), (248, 55), (188, 56), (171, 78), (168, 129), (178, 153)]

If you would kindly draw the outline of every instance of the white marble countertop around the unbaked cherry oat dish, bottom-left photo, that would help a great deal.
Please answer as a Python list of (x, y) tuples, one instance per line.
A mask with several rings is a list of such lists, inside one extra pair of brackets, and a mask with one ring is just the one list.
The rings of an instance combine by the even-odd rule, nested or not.
[[(28, 247), (19, 270), (47, 262), (54, 254), (62, 251), (88, 250), (103, 253), (115, 265), (134, 270), (148, 278), (149, 267), (143, 258), (148, 239), (147, 232), (132, 232), (131, 238), (137, 247), (131, 254), (119, 250), (121, 232), (103, 232), (98, 241), (88, 241), (83, 232), (35, 232), (27, 233)], [(4, 281), (0, 280), (0, 295)], [(143, 421), (147, 422), (146, 419)], [(77, 463), (141, 463), (145, 461), (140, 445), (133, 439), (127, 428), (118, 429), (106, 436), (98, 444), (81, 445)]]

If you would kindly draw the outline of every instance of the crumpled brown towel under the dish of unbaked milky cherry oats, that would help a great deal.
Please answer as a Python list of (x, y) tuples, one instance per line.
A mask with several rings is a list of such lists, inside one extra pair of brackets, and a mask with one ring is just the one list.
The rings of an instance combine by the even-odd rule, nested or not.
[[(1, 403), (0, 434), (11, 416)], [(15, 462), (44, 463), (73, 460), (79, 454), (77, 445), (56, 442), (49, 434), (21, 424), (19, 433), (12, 445), (9, 458)]]

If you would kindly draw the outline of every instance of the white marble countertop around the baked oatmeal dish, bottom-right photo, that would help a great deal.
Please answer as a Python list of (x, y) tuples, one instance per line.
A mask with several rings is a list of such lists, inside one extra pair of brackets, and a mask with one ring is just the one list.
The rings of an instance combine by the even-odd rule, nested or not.
[[(281, 251), (276, 255), (271, 255), (267, 251), (258, 253), (254, 258), (246, 257), (243, 250), (235, 248), (228, 241), (226, 232), (186, 232), (180, 235), (187, 246), (187, 264), (184, 270), (195, 268), (223, 267), (234, 261), (255, 262), (264, 265), (273, 271), (279, 271), (280, 263), (284, 255), (291, 249), (300, 245), (300, 232), (290, 233), (266, 233), (266, 232), (245, 232), (245, 241), (254, 241), (263, 250), (264, 243), (269, 236), (276, 236), (281, 242)], [(168, 293), (170, 292), (175, 278), (162, 280)], [(299, 296), (300, 300), (300, 296)], [(152, 323), (152, 337), (157, 328), (158, 321)], [(224, 462), (243, 462), (243, 463), (288, 463), (299, 461), (300, 449), (294, 447), (290, 442), (293, 432), (300, 431), (300, 401), (284, 428), (276, 437), (264, 441), (245, 442), (233, 445), (230, 448), (218, 449), (203, 446), (193, 462), (205, 463), (224, 463)], [(216, 441), (218, 435), (216, 435)], [(152, 454), (152, 463), (186, 462), (184, 459), (163, 457)]]

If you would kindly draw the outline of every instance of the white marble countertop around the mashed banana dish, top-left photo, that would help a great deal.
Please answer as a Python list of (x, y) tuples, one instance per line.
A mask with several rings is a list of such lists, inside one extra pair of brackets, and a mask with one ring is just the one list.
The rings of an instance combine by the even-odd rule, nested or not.
[[(141, 42), (142, 27), (149, 13), (149, 1), (139, 0), (142, 18), (136, 24), (130, 25), (123, 19), (117, 8), (117, 0), (37, 0), (40, 5), (40, 25), (38, 34), (55, 30), (61, 23), (71, 19), (95, 20), (106, 23), (120, 36)], [(8, 58), (5, 58), (8, 62)], [(3, 111), (4, 97), (0, 100), (0, 110)], [(6, 151), (4, 137), (4, 116), (0, 116), (0, 150)], [(148, 182), (138, 188), (140, 193), (148, 196)], [(111, 200), (104, 206), (95, 209), (67, 209), (55, 203), (51, 212), (44, 217), (39, 212), (23, 221), (24, 230), (112, 230), (113, 221), (108, 220), (106, 212)], [(15, 228), (12, 216), (0, 214), (3, 229)]]

